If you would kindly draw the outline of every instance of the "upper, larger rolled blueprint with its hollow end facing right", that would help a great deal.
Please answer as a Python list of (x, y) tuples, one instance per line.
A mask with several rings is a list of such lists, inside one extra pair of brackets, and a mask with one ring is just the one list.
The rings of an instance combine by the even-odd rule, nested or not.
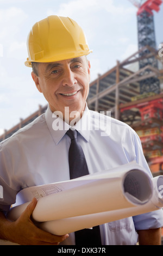
[[(135, 208), (147, 204), (153, 194), (151, 178), (135, 163), (52, 185), (58, 192), (38, 199), (32, 214), (36, 222)], [(27, 194), (33, 189), (27, 188)], [(8, 217), (16, 220), (28, 204), (11, 208)]]

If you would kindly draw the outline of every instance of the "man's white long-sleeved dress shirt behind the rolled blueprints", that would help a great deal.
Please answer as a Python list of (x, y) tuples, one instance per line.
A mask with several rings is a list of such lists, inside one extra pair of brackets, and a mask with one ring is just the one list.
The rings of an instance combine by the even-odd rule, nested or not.
[[(140, 139), (127, 124), (90, 111), (86, 106), (75, 127), (90, 174), (136, 161), (152, 177)], [(69, 128), (48, 107), (45, 114), (0, 144), (0, 185), (4, 197), (1, 210), (9, 211), (23, 188), (70, 179), (71, 141), (65, 135)], [(159, 228), (162, 224), (162, 210), (106, 223), (100, 226), (102, 244), (135, 245), (136, 230)], [(74, 233), (61, 244), (74, 245)]]

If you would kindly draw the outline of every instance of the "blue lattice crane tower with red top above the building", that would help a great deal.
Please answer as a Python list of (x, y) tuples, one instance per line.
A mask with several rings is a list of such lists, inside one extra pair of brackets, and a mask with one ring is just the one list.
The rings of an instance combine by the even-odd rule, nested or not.
[[(154, 18), (153, 11), (158, 12), (160, 10), (160, 5), (162, 0), (128, 0), (135, 5), (137, 10), (137, 34), (138, 34), (138, 45), (139, 50), (145, 48), (145, 50), (140, 51), (140, 57), (145, 56), (149, 53), (148, 48), (145, 46), (152, 47), (156, 49), (155, 40), (155, 29), (154, 29)], [(158, 68), (158, 62), (154, 57), (142, 58), (139, 61), (139, 68), (142, 69), (146, 65), (152, 65), (154, 68)], [(140, 82), (140, 94), (154, 92), (156, 94), (160, 93), (160, 81), (156, 77), (147, 78)]]

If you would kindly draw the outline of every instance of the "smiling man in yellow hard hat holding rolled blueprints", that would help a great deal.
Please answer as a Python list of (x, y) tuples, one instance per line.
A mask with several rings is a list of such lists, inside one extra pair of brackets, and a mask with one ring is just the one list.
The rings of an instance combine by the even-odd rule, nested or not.
[[(35, 198), (17, 221), (6, 217), (21, 189), (70, 179), (71, 139), (66, 131), (71, 126), (78, 131), (89, 173), (131, 161), (151, 173), (136, 133), (128, 125), (87, 108), (90, 62), (86, 55), (91, 51), (78, 24), (67, 17), (49, 16), (33, 26), (27, 45), (26, 65), (33, 67), (32, 78), (48, 101), (48, 109), (1, 143), (4, 200), (0, 205), (0, 238), (20, 245), (75, 245), (74, 233), (55, 236), (35, 227), (30, 218)], [(99, 119), (104, 120), (100, 127)], [(135, 245), (138, 235), (141, 245), (159, 245), (161, 226), (162, 210), (105, 223), (100, 226), (102, 245)]]

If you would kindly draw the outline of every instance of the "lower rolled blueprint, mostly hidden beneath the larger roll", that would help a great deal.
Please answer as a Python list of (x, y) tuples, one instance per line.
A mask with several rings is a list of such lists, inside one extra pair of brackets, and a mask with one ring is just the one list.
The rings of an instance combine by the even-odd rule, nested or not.
[(91, 228), (96, 225), (161, 209), (163, 207), (163, 176), (153, 178), (152, 182), (154, 187), (153, 196), (146, 204), (97, 214), (64, 218), (57, 221), (42, 222), (38, 223), (38, 227), (55, 235), (64, 235), (80, 229)]

